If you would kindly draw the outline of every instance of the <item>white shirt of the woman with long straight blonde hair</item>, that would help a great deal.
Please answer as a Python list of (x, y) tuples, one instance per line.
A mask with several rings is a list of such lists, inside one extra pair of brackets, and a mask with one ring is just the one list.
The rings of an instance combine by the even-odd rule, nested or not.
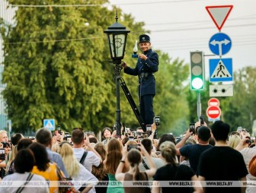
[[(72, 176), (72, 182), (74, 183), (75, 190), (78, 190), (81, 187), (81, 182), (85, 184), (92, 183), (96, 185), (98, 183), (98, 179), (91, 172), (89, 172), (88, 169), (86, 169), (81, 163), (79, 163), (79, 166), (80, 169), (78, 175)], [(75, 181), (78, 181), (80, 183), (77, 184), (75, 183)], [(88, 193), (96, 193), (95, 188), (91, 188)]]

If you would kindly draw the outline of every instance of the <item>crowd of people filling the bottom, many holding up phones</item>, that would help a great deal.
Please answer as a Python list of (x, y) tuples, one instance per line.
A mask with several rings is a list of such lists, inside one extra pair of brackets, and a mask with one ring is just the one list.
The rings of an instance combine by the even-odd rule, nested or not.
[[(222, 121), (211, 128), (197, 122), (195, 128), (182, 138), (163, 134), (155, 139), (155, 123), (150, 133), (122, 129), (122, 136), (106, 127), (102, 141), (83, 128), (73, 128), (70, 136), (40, 128), (34, 138), (16, 133), (10, 141), (2, 130), (0, 192), (256, 192), (256, 146), (249, 132), (230, 132)], [(66, 189), (58, 183), (64, 179)], [(18, 181), (45, 185), (4, 185)]]

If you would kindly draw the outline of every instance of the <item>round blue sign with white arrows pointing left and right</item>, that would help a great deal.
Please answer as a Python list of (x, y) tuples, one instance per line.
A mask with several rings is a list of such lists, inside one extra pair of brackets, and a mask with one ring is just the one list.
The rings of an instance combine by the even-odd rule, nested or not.
[(214, 34), (209, 41), (210, 50), (216, 55), (225, 55), (231, 49), (232, 42), (225, 33)]

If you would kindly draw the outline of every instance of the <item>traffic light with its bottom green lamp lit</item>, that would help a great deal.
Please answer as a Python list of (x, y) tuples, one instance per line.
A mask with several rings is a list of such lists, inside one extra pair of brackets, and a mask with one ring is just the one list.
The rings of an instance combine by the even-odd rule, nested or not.
[(204, 89), (203, 52), (190, 52), (190, 90)]

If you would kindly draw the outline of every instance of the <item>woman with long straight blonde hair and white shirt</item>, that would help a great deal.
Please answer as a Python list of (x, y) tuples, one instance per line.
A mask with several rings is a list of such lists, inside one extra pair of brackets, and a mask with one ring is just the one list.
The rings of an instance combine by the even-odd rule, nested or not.
[[(78, 181), (87, 184), (87, 186), (76, 185), (74, 183), (74, 188), (79, 192), (96, 192), (94, 185), (98, 182), (98, 179), (88, 171), (81, 163), (76, 159), (74, 152), (72, 150), (71, 144), (67, 141), (62, 141), (59, 144), (59, 154), (62, 157), (66, 171), (69, 174), (69, 178), (72, 182)], [(90, 182), (90, 184), (88, 184)]]

